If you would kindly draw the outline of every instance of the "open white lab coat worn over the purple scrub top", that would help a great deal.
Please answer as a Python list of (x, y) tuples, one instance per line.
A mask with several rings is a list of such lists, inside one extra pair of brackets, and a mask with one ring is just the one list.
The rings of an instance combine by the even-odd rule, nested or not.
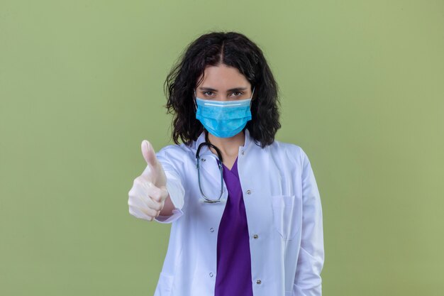
[[(223, 202), (203, 202), (195, 155), (204, 140), (202, 133), (191, 146), (166, 146), (157, 153), (177, 209), (172, 216), (156, 218), (172, 226), (155, 296), (214, 295), (218, 226), (228, 191), (223, 183)], [(201, 149), (200, 157), (204, 159), (204, 193), (216, 199), (221, 191), (216, 158), (208, 146)], [(279, 141), (261, 148), (245, 129), (238, 173), (250, 236), (253, 295), (320, 296), (324, 261), (321, 199), (306, 153)]]

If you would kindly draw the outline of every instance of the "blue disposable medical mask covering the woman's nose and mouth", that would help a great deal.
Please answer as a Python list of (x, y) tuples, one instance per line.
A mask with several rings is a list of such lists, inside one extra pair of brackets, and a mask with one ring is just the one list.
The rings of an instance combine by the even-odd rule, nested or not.
[[(252, 90), (254, 94), (255, 89)], [(196, 97), (196, 119), (218, 138), (237, 135), (251, 120), (251, 99), (213, 101)]]

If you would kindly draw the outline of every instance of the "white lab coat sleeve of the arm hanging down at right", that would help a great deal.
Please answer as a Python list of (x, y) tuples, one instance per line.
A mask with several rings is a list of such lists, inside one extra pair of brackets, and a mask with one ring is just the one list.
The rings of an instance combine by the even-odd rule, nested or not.
[(294, 278), (294, 296), (321, 296), (321, 270), (324, 262), (321, 198), (304, 150), (301, 153), (302, 228), (301, 248)]

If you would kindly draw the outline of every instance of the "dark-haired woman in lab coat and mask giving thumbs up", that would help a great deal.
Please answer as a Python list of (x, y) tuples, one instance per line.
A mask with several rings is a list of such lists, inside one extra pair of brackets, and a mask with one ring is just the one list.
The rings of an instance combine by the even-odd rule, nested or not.
[(165, 92), (176, 145), (142, 142), (128, 199), (133, 216), (172, 223), (155, 296), (321, 295), (321, 200), (304, 150), (274, 141), (277, 84), (260, 48), (201, 35)]

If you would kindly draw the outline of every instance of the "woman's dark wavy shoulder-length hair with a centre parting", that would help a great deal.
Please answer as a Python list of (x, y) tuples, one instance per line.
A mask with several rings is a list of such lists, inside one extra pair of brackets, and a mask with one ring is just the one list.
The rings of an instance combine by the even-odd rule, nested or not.
[(235, 67), (255, 87), (251, 102), (252, 119), (245, 128), (262, 148), (274, 141), (279, 124), (278, 87), (267, 61), (255, 43), (235, 32), (211, 32), (190, 43), (165, 80), (167, 113), (173, 114), (172, 139), (190, 145), (204, 126), (196, 119), (194, 88), (207, 66)]

